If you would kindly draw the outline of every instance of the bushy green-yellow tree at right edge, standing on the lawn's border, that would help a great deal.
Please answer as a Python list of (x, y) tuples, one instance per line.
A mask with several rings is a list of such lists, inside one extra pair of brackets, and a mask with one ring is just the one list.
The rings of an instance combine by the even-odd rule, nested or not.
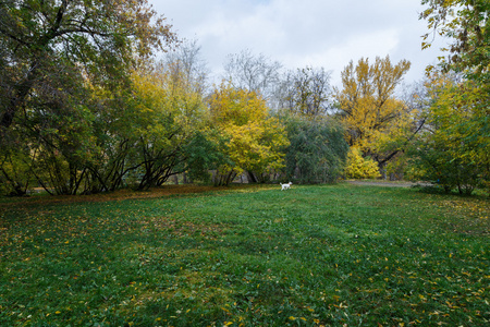
[(434, 75), (428, 89), (426, 125), (411, 152), (414, 179), (430, 181), (446, 192), (457, 189), (461, 194), (489, 187), (489, 135), (475, 133), (487, 119), (479, 117), (479, 108), (488, 95), (477, 83), (448, 74)]

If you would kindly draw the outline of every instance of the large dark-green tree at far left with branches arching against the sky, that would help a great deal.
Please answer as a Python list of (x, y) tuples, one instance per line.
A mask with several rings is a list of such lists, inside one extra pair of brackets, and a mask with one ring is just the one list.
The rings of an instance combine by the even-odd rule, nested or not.
[[(3, 178), (11, 185), (34, 180), (58, 194), (88, 190), (97, 178), (105, 186), (95, 189), (106, 190), (108, 180), (90, 170), (107, 159), (99, 156), (100, 146), (110, 143), (98, 131), (118, 121), (105, 105), (123, 107), (117, 95), (127, 94), (123, 88), (131, 85), (134, 64), (174, 39), (146, 0), (1, 1)], [(112, 149), (123, 145), (130, 147), (121, 141)], [(123, 162), (120, 156), (110, 160)], [(8, 162), (24, 167), (24, 172), (19, 174)], [(24, 182), (14, 183), (15, 175)], [(120, 184), (121, 174), (109, 175), (112, 185)]]

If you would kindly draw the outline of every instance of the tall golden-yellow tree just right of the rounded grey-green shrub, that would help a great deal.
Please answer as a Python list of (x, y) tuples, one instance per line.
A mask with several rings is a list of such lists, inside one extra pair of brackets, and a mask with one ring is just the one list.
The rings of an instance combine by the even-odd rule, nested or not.
[(394, 96), (409, 66), (406, 60), (393, 65), (388, 56), (377, 57), (373, 64), (367, 58), (356, 66), (351, 61), (342, 71), (343, 89), (335, 89), (348, 144), (373, 158), (381, 169), (419, 129), (409, 108)]

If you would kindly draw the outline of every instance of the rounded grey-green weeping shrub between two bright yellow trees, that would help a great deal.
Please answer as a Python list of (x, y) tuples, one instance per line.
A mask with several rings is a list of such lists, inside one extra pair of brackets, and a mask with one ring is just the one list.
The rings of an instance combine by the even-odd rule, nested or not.
[(333, 119), (301, 116), (285, 119), (291, 142), (286, 175), (301, 183), (332, 183), (343, 172), (347, 154), (344, 130)]

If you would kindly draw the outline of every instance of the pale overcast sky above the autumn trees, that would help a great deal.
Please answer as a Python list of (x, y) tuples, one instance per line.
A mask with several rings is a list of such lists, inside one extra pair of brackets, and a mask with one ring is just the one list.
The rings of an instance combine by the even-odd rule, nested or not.
[[(248, 49), (285, 69), (324, 68), (332, 84), (351, 60), (390, 56), (412, 62), (405, 81), (437, 62), (442, 40), (421, 50), (420, 0), (149, 0), (180, 38), (195, 39), (219, 75), (225, 58)], [(341, 86), (341, 85), (339, 85)]]

